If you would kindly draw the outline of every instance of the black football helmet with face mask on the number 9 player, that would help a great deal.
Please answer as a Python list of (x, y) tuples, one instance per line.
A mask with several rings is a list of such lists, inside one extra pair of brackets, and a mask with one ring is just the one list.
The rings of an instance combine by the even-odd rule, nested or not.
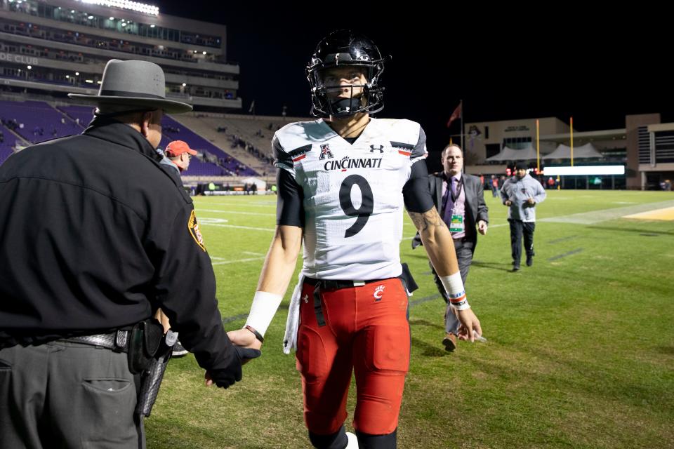
[[(315, 116), (351, 116), (357, 112), (375, 114), (384, 108), (384, 88), (379, 85), (384, 71), (384, 59), (373, 41), (362, 34), (340, 29), (331, 32), (318, 43), (307, 65), (311, 86), (311, 113)], [(331, 67), (360, 67), (366, 84), (326, 86), (322, 71)], [(351, 98), (329, 98), (329, 91), (350, 87)], [(362, 94), (353, 96), (354, 88)]]

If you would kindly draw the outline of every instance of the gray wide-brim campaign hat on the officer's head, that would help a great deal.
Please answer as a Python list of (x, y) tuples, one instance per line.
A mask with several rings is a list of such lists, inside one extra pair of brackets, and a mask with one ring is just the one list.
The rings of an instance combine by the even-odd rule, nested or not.
[(128, 105), (138, 108), (164, 109), (169, 114), (183, 114), (192, 110), (187, 103), (166, 100), (164, 71), (147, 61), (112, 59), (105, 65), (98, 95), (69, 93), (80, 101), (106, 105)]

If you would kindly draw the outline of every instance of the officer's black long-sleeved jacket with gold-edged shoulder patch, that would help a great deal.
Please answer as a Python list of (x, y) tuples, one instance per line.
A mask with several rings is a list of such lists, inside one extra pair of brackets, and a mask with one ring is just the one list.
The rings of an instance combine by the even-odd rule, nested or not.
[(0, 166), (0, 347), (103, 333), (161, 307), (206, 369), (233, 356), (192, 200), (138, 131), (96, 119)]

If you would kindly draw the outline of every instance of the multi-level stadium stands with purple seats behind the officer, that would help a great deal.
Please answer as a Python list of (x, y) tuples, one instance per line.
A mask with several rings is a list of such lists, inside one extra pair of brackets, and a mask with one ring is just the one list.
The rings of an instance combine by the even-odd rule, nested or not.
[(265, 187), (275, 172), (273, 132), (291, 117), (240, 114), (239, 65), (227, 60), (225, 25), (174, 17), (126, 0), (0, 0), (0, 163), (34, 142), (81, 133), (92, 118), (67, 93), (95, 94), (108, 60), (154, 62), (166, 98), (192, 114), (165, 116), (160, 147), (199, 152), (183, 182)]

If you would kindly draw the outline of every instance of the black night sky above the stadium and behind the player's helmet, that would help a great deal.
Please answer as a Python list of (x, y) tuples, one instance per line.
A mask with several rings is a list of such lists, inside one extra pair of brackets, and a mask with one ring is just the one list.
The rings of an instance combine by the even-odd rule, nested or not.
[(660, 112), (663, 122), (674, 121), (673, 39), (666, 14), (655, 10), (302, 4), (158, 3), (160, 13), (227, 25), (227, 59), (241, 65), (244, 113), (254, 99), (257, 114), (280, 115), (287, 105), (289, 116), (308, 116), (305, 66), (323, 36), (348, 28), (392, 56), (378, 116), (418, 121), (430, 150), (460, 132), (458, 121), (445, 124), (461, 99), (465, 121), (557, 116), (568, 123), (573, 116), (578, 131), (623, 128), (626, 114)]

